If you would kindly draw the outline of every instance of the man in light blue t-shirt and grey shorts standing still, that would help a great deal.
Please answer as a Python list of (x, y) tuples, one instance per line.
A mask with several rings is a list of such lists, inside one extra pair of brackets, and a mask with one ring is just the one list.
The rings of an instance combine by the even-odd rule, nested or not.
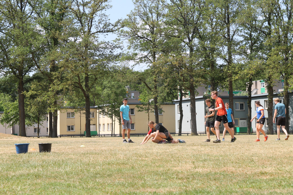
[[(120, 117), (122, 122), (122, 139), (123, 143), (134, 143), (130, 139), (130, 124), (132, 122), (131, 115), (130, 115), (130, 109), (127, 105), (127, 98), (123, 99), (123, 105), (120, 106)], [(127, 129), (127, 138), (128, 142), (125, 139), (125, 131)]]

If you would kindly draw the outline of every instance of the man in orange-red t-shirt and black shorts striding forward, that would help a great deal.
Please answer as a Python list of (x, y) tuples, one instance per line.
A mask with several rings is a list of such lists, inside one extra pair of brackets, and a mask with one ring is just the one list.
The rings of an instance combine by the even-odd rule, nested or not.
[(236, 140), (236, 137), (234, 137), (234, 134), (231, 130), (231, 128), (228, 126), (228, 119), (227, 119), (227, 111), (226, 108), (224, 107), (224, 102), (221, 98), (218, 97), (218, 92), (213, 91), (211, 92), (212, 99), (216, 100), (216, 108), (210, 108), (209, 111), (218, 111), (217, 112), (217, 118), (215, 120), (215, 130), (216, 130), (216, 135), (217, 139), (213, 141), (214, 143), (221, 143), (220, 140), (220, 129), (219, 125), (221, 121), (223, 121), (223, 125), (228, 130), (228, 132), (231, 135), (231, 142), (234, 142)]

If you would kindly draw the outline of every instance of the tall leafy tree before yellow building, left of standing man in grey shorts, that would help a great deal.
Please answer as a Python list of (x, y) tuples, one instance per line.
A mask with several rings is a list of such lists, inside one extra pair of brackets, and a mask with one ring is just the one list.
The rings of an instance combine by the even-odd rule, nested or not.
[(72, 3), (70, 12), (74, 19), (71, 37), (64, 42), (64, 57), (58, 64), (64, 74), (64, 87), (76, 87), (85, 99), (86, 137), (90, 132), (90, 93), (96, 82), (109, 73), (116, 61), (117, 45), (98, 41), (99, 35), (114, 32), (118, 26), (108, 22), (103, 12), (110, 8), (107, 0), (79, 1)]

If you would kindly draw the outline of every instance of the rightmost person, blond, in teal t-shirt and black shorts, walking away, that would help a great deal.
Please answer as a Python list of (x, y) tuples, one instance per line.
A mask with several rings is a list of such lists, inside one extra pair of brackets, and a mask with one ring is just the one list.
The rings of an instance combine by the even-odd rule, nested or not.
[(282, 127), (283, 132), (286, 134), (285, 140), (288, 140), (289, 135), (287, 133), (287, 130), (285, 129), (285, 124), (286, 124), (286, 107), (284, 104), (280, 103), (280, 99), (276, 98), (274, 99), (275, 102), (275, 113), (274, 113), (274, 118), (273, 118), (273, 123), (275, 123), (275, 118), (276, 118), (276, 125), (277, 125), (277, 134), (278, 134), (278, 139), (280, 140), (280, 125)]

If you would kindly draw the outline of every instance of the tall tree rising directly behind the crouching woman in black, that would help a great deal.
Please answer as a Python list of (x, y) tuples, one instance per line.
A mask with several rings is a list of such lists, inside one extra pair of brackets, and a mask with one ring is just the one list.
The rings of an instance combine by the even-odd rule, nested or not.
[(119, 36), (128, 41), (128, 49), (132, 49), (132, 60), (136, 64), (146, 63), (148, 69), (136, 76), (151, 92), (154, 99), (156, 123), (159, 123), (158, 80), (159, 70), (153, 65), (157, 56), (162, 53), (165, 42), (162, 27), (165, 8), (161, 0), (134, 0), (134, 10), (124, 20), (126, 29), (119, 31)]

